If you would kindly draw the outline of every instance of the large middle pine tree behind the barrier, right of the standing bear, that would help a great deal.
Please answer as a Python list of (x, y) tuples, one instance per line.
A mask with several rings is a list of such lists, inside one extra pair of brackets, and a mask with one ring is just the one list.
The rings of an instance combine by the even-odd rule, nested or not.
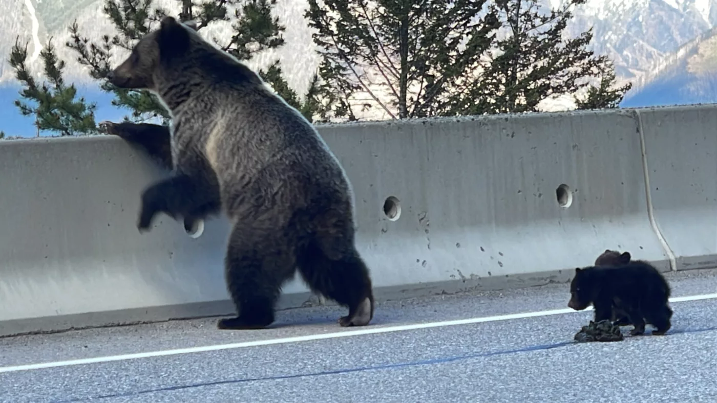
[(488, 0), (309, 0), (323, 117), (453, 115), (499, 22)]

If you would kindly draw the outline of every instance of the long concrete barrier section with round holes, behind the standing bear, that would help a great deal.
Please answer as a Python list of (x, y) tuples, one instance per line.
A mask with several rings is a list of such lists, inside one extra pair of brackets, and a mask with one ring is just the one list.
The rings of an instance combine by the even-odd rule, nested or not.
[[(669, 269), (634, 112), (318, 128), (353, 184), (379, 301), (566, 281), (605, 248)], [(193, 239), (162, 216), (138, 233), (163, 173), (120, 139), (0, 142), (0, 172), (0, 335), (234, 311), (226, 222)], [(284, 291), (283, 308), (310, 297)]]

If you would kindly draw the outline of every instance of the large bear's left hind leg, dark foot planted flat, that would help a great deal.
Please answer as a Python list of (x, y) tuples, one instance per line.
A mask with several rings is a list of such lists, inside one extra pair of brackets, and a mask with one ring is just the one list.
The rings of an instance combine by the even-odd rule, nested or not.
[(274, 322), (282, 283), (295, 273), (293, 248), (282, 236), (262, 236), (237, 224), (224, 258), (227, 290), (238, 316), (221, 319), (219, 329), (263, 329)]

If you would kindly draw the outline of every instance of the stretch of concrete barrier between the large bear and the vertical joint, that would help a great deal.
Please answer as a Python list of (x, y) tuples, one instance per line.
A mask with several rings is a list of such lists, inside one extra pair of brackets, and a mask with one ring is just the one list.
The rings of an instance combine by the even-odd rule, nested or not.
[[(605, 248), (668, 270), (647, 219), (635, 129), (630, 113), (584, 112), (320, 131), (356, 189), (376, 283), (441, 292), (492, 278), (564, 281)], [(397, 220), (384, 214), (388, 198), (399, 200)]]

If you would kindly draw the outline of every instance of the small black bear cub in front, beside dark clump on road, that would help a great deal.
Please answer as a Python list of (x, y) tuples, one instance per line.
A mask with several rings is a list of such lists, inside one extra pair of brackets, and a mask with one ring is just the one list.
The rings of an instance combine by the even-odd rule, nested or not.
[(630, 331), (632, 336), (645, 333), (646, 321), (657, 328), (652, 334), (665, 334), (672, 326), (673, 315), (668, 306), (668, 282), (650, 263), (630, 260), (624, 263), (630, 253), (617, 253), (620, 256), (622, 261), (613, 261), (616, 264), (576, 268), (568, 306), (582, 311), (592, 304), (596, 322), (612, 319), (613, 314), (625, 315), (627, 323), (635, 326)]

